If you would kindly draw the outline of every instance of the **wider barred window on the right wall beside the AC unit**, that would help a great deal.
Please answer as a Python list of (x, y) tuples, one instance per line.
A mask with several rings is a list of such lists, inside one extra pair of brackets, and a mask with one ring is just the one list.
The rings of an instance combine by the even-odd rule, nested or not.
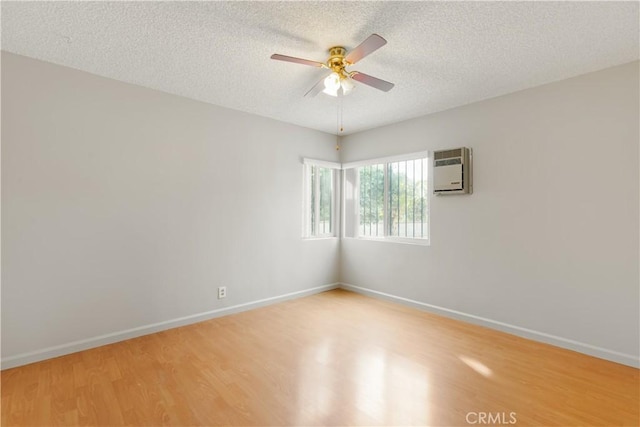
[(428, 156), (345, 165), (345, 236), (428, 243)]

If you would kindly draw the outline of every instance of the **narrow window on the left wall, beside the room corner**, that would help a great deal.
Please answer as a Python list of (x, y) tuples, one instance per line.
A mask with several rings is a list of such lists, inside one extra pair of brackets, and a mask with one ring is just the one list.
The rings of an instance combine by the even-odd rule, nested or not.
[(304, 160), (304, 237), (337, 236), (339, 169), (337, 163)]

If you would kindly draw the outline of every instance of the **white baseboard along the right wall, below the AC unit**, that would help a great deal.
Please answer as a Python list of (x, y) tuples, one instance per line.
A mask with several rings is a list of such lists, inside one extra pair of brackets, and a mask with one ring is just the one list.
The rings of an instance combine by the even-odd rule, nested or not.
[(602, 347), (597, 347), (591, 344), (585, 344), (585, 343), (571, 340), (568, 338), (562, 338), (556, 335), (551, 335), (544, 332), (538, 332), (532, 329), (521, 328), (520, 326), (514, 326), (508, 323), (498, 322), (496, 320), (475, 316), (473, 314), (467, 314), (461, 311), (451, 310), (444, 307), (438, 307), (436, 305), (431, 305), (424, 302), (387, 294), (385, 292), (374, 291), (372, 289), (367, 289), (367, 288), (361, 288), (359, 286), (350, 285), (348, 283), (342, 283), (340, 287), (342, 289), (353, 291), (362, 295), (385, 299), (387, 301), (396, 302), (402, 305), (417, 308), (419, 310), (428, 311), (430, 313), (438, 314), (441, 316), (462, 320), (464, 322), (473, 323), (480, 326), (486, 326), (491, 329), (497, 329), (499, 331), (507, 332), (509, 334), (517, 335), (523, 338), (528, 338), (534, 341), (540, 341), (545, 344), (555, 345), (557, 347), (566, 348), (568, 350), (577, 351), (579, 353), (588, 354), (589, 356), (610, 360), (612, 362), (621, 363), (623, 365), (632, 366), (634, 368), (640, 368), (640, 359), (631, 354), (620, 353), (617, 351), (609, 350)]

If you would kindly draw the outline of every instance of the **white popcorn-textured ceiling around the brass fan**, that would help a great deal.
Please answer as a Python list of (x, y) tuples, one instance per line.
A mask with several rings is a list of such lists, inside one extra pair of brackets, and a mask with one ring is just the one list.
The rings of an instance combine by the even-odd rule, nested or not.
[(303, 95), (372, 33), (344, 134), (637, 60), (638, 2), (2, 2), (2, 49), (337, 132), (337, 100)]

